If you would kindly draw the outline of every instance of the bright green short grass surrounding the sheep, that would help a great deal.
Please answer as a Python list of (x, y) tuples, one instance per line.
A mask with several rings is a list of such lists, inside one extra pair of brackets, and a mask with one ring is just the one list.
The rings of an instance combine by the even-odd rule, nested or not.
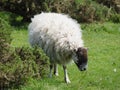
[[(13, 47), (29, 46), (27, 28), (15, 28)], [(71, 84), (59, 76), (30, 79), (21, 90), (120, 90), (120, 24), (110, 22), (82, 24), (83, 40), (88, 47), (88, 70), (80, 72), (74, 63), (68, 65)]]

